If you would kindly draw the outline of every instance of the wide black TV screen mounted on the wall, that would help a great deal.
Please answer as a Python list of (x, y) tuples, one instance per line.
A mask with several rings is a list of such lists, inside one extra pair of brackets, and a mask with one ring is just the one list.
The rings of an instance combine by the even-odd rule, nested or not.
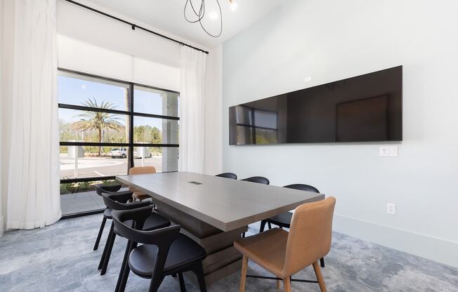
[(403, 67), (229, 108), (230, 145), (403, 140)]

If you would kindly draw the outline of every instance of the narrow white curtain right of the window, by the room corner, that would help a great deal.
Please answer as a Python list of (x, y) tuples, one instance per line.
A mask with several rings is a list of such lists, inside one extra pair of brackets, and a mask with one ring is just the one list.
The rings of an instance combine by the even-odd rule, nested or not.
[(181, 46), (178, 171), (204, 173), (207, 54)]

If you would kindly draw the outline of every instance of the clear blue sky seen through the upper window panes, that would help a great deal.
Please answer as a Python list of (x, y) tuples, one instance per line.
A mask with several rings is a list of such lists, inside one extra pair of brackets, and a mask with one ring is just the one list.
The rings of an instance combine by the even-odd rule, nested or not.
[[(100, 83), (86, 79), (58, 76), (58, 101), (70, 105), (83, 105), (89, 98), (95, 98), (100, 105), (102, 102), (111, 102), (113, 110), (127, 110), (124, 94), (127, 87), (124, 84)], [(133, 110), (148, 114), (162, 114), (162, 97), (151, 91), (134, 90)], [(59, 119), (65, 123), (79, 121), (76, 117), (82, 112), (79, 110), (59, 109)], [(119, 122), (125, 125), (127, 116), (117, 115)], [(149, 125), (162, 129), (162, 119), (134, 117), (134, 126)]]

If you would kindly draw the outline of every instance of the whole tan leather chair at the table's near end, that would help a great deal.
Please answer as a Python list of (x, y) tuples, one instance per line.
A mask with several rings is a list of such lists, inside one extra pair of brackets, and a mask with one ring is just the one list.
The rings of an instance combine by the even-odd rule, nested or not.
[[(243, 254), (240, 292), (245, 291), (248, 259), (282, 279), (285, 292), (292, 291), (290, 277), (293, 274), (313, 265), (320, 290), (325, 292), (318, 260), (331, 248), (335, 204), (334, 197), (303, 204), (294, 211), (289, 232), (274, 228), (235, 241), (235, 248)], [(280, 288), (278, 279), (277, 288)]]

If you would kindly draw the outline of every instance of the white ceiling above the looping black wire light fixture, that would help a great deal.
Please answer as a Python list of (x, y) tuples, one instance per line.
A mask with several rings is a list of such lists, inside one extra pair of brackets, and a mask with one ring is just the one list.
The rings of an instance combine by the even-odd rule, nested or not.
[[(164, 32), (201, 44), (207, 48), (223, 43), (238, 32), (249, 27), (264, 15), (284, 4), (285, 0), (235, 0), (237, 10), (232, 11), (229, 0), (219, 0), (223, 13), (223, 33), (218, 38), (207, 35), (199, 23), (189, 23), (183, 17), (186, 0), (91, 0), (94, 4), (126, 15)], [(195, 6), (200, 0), (192, 0)], [(216, 0), (206, 1), (206, 15), (218, 11)], [(205, 18), (212, 32), (218, 32), (220, 20)]]

